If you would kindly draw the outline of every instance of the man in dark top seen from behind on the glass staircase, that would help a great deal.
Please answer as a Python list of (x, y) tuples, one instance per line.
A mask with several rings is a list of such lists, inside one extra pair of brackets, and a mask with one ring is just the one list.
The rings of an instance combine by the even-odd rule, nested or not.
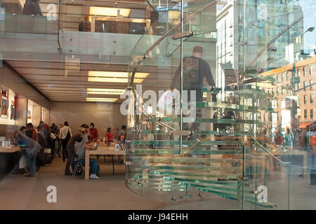
[[(203, 101), (203, 80), (204, 77), (209, 85), (215, 87), (215, 82), (209, 64), (202, 59), (203, 48), (201, 46), (195, 46), (192, 50), (191, 57), (183, 58), (183, 90), (187, 90), (187, 102), (190, 100), (190, 91), (195, 90), (196, 102)], [(178, 67), (175, 76), (171, 83), (171, 90), (180, 90), (180, 66)], [(212, 94), (212, 101), (216, 102), (216, 94)], [(201, 109), (197, 109), (197, 118), (202, 118)], [(183, 124), (183, 130), (186, 130), (187, 123)], [(199, 130), (199, 123), (192, 124), (192, 130)]]

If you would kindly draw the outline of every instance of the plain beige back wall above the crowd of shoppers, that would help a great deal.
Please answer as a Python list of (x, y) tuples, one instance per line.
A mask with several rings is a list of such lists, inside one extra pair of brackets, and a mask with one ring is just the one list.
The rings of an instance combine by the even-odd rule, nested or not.
[(68, 121), (72, 132), (76, 132), (80, 125), (94, 123), (99, 136), (103, 137), (107, 127), (121, 128), (126, 125), (126, 116), (119, 111), (120, 104), (97, 102), (51, 102), (50, 124), (63, 124)]

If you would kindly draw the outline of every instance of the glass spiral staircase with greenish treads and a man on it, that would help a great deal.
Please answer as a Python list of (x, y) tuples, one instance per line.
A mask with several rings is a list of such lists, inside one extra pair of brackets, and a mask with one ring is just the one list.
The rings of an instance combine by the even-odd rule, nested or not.
[[(277, 80), (268, 73), (272, 66), (267, 72), (257, 69), (268, 55), (268, 50), (261, 49), (271, 45), (274, 36), (258, 43), (255, 55), (246, 56), (254, 58), (249, 61), (244, 57), (243, 41), (244, 30), (249, 28), (243, 19), (246, 14), (241, 14), (239, 36), (227, 43), (235, 52), (219, 55), (218, 47), (222, 46), (218, 43), (223, 34), (216, 33), (216, 25), (225, 3), (184, 1), (181, 23), (181, 2), (147, 2), (154, 22), (138, 40), (129, 66), (127, 90), (135, 113), (129, 114), (128, 119), (126, 186), (165, 202), (212, 204), (214, 198), (220, 197), (232, 200), (223, 205), (224, 209), (289, 209), (290, 174), (295, 172), (289, 162), (279, 159), (283, 151), (274, 147), (269, 137), (276, 112), (272, 87)], [(244, 7), (239, 3), (236, 10), (244, 13)], [(175, 38), (180, 34), (182, 41)], [(228, 32), (230, 35), (233, 34)], [(216, 79), (216, 87), (206, 83), (200, 90), (203, 100), (195, 104), (200, 116), (190, 120), (155, 111), (145, 102), (161, 99), (162, 92), (171, 86), (181, 59), (190, 57), (195, 45), (204, 49), (203, 59)], [(221, 59), (228, 55), (232, 61), (235, 59), (235, 65), (228, 63), (229, 59)], [(147, 76), (142, 77), (142, 73)], [(182, 83), (185, 85), (184, 78)], [(144, 94), (146, 90), (157, 97)], [(178, 109), (187, 105), (180, 104)], [(172, 106), (177, 108), (174, 102)]]

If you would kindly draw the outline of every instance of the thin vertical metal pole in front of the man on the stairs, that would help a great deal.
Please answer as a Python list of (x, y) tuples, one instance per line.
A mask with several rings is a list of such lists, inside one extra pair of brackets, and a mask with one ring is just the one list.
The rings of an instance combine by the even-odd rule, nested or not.
[[(180, 32), (183, 32), (183, 0), (181, 0)], [(183, 38), (180, 38), (180, 131), (183, 130)], [(182, 136), (180, 136), (180, 155), (182, 155)]]

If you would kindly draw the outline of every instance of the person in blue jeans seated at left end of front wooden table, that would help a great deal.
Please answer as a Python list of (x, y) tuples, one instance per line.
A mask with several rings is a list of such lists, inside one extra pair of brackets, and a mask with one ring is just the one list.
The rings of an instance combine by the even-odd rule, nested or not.
[[(74, 144), (74, 152), (76, 153), (78, 160), (81, 162), (81, 164), (84, 165), (86, 162), (85, 151), (93, 147), (87, 145), (89, 130), (86, 128), (83, 128), (82, 126), (83, 125), (81, 125), (81, 128), (80, 128), (80, 131), (84, 133), (82, 137), (82, 141), (80, 142), (76, 141), (76, 143)], [(90, 179), (100, 179), (100, 177), (97, 176), (98, 174), (97, 160), (89, 159), (89, 166), (91, 167)]]

